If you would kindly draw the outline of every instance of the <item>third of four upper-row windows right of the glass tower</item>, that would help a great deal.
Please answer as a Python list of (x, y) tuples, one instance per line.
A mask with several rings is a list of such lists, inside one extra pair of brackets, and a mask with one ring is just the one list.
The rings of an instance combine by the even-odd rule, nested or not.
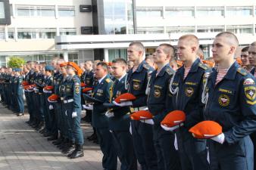
[(224, 15), (223, 7), (196, 8), (196, 16), (198, 16), (198, 17), (220, 17), (223, 15)]

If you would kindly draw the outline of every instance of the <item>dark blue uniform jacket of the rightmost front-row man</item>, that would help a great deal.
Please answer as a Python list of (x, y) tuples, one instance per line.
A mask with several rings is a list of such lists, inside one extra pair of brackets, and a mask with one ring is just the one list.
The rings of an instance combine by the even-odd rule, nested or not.
[(213, 70), (206, 86), (209, 97), (204, 106), (204, 118), (218, 122), (225, 141), (235, 144), (256, 131), (255, 79), (237, 62), (217, 85), (216, 77), (217, 70)]

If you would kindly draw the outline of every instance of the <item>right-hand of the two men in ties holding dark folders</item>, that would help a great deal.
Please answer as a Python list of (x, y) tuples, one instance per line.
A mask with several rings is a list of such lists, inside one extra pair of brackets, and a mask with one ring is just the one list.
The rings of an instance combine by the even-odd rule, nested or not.
[[(116, 78), (111, 94), (111, 102), (120, 94), (126, 93), (126, 60), (118, 58), (112, 62), (113, 76)], [(121, 170), (136, 170), (137, 160), (133, 148), (133, 138), (130, 134), (130, 107), (110, 108), (106, 113), (109, 129), (114, 138), (114, 146), (121, 162)]]

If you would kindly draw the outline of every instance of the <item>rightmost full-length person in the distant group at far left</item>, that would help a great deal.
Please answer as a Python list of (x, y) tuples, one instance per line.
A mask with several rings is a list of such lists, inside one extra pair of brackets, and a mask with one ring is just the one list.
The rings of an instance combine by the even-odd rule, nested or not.
[(24, 115), (24, 102), (23, 102), (23, 88), (22, 88), (22, 76), (20, 75), (21, 69), (14, 70), (16, 77), (14, 84), (14, 95), (17, 99), (17, 116)]

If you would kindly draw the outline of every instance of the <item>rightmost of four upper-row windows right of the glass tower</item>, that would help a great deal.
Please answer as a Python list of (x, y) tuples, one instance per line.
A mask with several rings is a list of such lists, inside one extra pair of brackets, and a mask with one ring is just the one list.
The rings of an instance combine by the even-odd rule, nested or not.
[(250, 16), (252, 15), (252, 7), (226, 7), (226, 16)]

